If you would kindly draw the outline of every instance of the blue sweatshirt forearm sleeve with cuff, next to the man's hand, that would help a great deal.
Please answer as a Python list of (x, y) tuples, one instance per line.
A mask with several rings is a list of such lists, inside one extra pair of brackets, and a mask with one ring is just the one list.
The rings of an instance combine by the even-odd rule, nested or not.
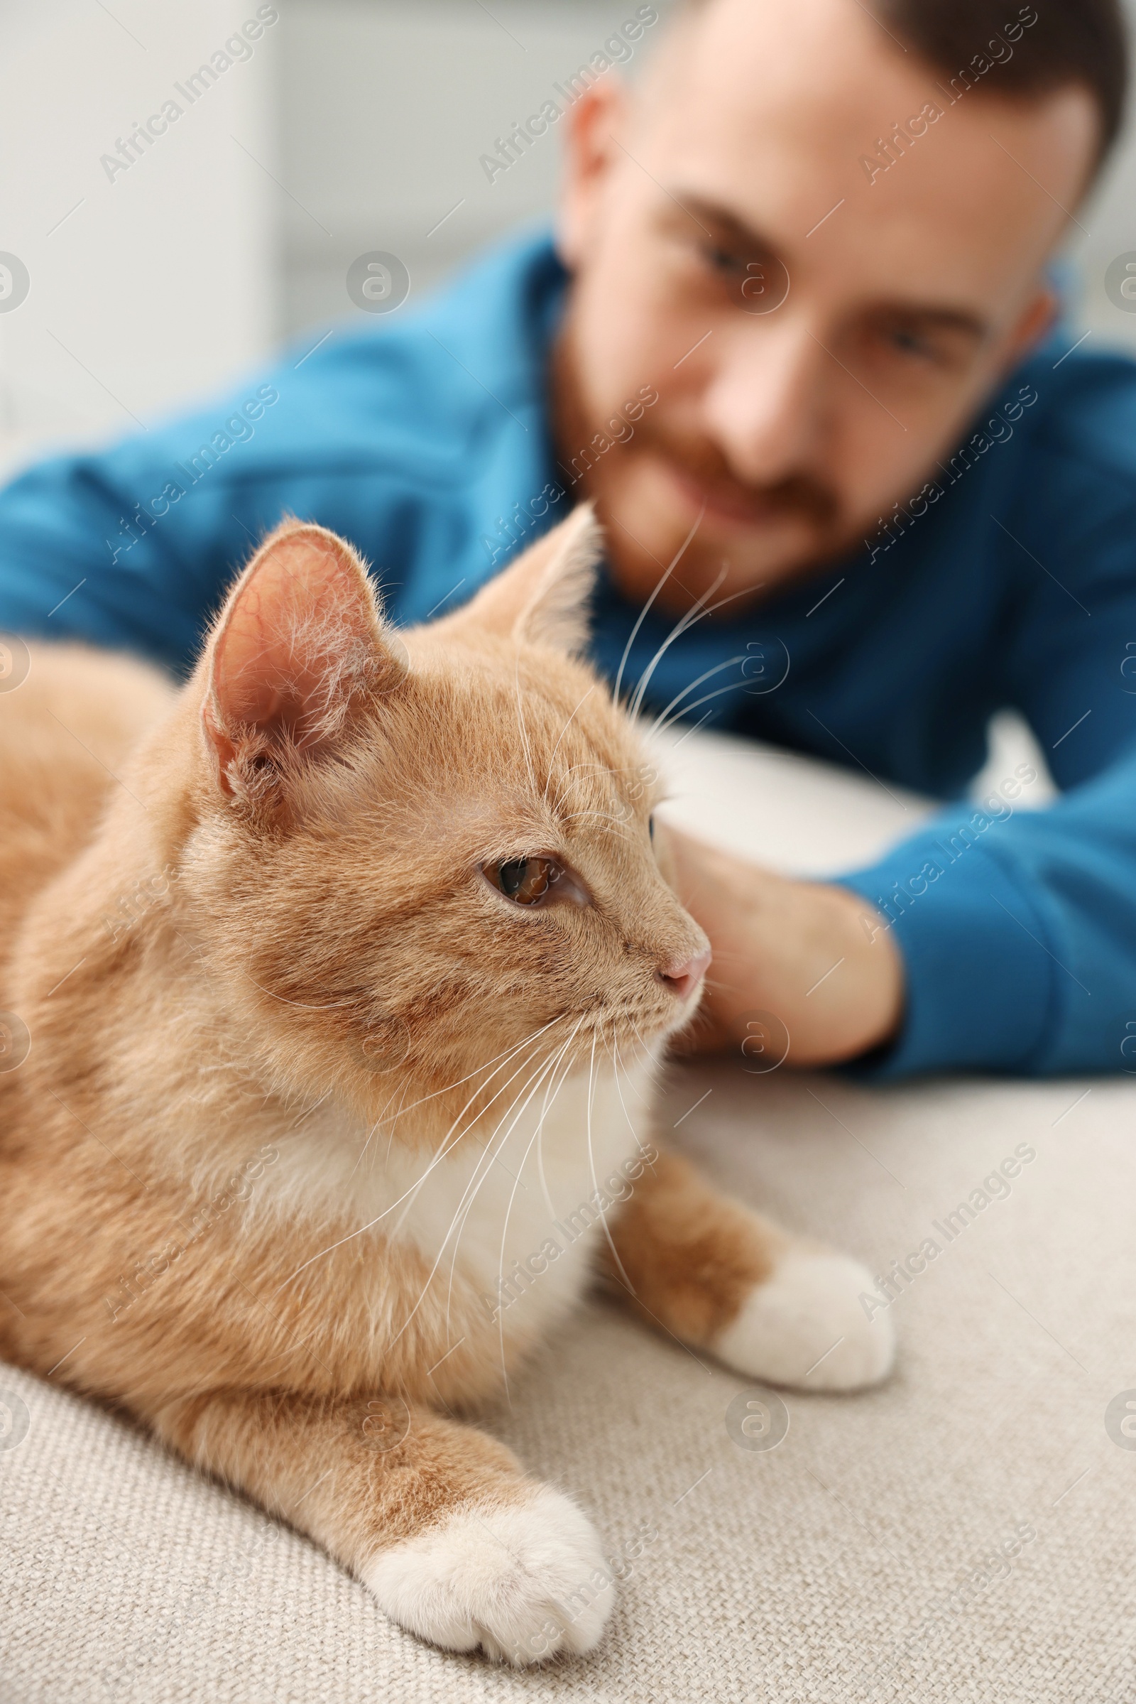
[(1027, 769), (840, 879), (906, 973), (899, 1034), (857, 1072), (1136, 1072), (1136, 750), (1044, 811), (1015, 804)]

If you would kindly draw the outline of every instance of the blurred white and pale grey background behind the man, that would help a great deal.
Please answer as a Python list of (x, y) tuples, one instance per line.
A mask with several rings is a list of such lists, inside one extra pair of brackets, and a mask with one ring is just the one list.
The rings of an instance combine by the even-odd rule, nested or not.
[[(480, 155), (634, 12), (634, 0), (0, 0), (0, 264), (15, 254), (29, 274), (27, 300), (0, 314), (0, 465), (148, 428), (283, 337), (315, 341), (358, 317), (344, 279), (366, 250), (402, 257), (414, 300), (545, 215), (555, 130), (492, 182)], [(189, 104), (177, 85), (250, 17), (264, 26), (250, 56)], [(129, 167), (107, 167), (170, 99), (181, 118), (135, 143)], [(1136, 250), (1131, 133), (1080, 222), (1073, 336), (1136, 351), (1136, 314), (1104, 290), (1109, 262)]]

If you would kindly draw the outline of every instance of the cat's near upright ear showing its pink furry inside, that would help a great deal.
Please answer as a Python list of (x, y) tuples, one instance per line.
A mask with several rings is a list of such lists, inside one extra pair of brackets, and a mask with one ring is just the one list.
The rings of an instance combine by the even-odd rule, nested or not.
[(240, 772), (318, 758), (353, 711), (405, 675), (349, 544), (284, 521), (233, 586), (209, 636), (201, 726), (225, 792)]

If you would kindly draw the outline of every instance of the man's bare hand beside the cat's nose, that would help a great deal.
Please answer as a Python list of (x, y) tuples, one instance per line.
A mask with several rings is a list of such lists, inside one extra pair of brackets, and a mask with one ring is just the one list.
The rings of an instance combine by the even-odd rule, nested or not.
[(714, 947), (690, 1050), (739, 1046), (758, 1033), (749, 1022), (760, 1012), (785, 1026), (789, 1065), (835, 1065), (896, 1033), (903, 961), (884, 920), (858, 895), (787, 881), (669, 826), (659, 852)]

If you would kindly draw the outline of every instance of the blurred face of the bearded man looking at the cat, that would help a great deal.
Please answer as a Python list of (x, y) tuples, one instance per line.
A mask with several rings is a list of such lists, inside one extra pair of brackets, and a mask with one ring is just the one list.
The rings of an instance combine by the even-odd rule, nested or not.
[[(700, 515), (673, 610), (857, 547), (1044, 329), (1097, 121), (1080, 89), (1010, 102), (998, 75), (959, 97), (858, 0), (710, 0), (634, 97), (605, 78), (574, 107), (557, 450), (591, 462), (576, 489), (628, 595)], [(923, 135), (870, 181), (896, 123)]]

